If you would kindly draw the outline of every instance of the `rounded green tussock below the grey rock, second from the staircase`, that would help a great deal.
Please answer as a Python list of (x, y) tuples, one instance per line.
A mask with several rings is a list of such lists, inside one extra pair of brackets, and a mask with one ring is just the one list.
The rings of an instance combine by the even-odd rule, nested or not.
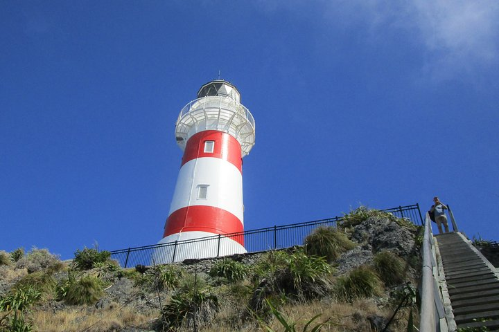
[(348, 275), (338, 278), (335, 293), (339, 300), (352, 302), (354, 299), (380, 295), (381, 287), (382, 283), (374, 270), (359, 266)]

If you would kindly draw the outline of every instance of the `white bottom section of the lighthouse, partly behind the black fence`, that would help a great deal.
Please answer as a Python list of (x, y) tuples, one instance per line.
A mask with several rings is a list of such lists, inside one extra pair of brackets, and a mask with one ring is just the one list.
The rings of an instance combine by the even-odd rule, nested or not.
[[(220, 257), (246, 252), (238, 242), (243, 234), (234, 237), (213, 235), (209, 232), (182, 232), (168, 235), (152, 252), (151, 265), (168, 264), (184, 259)], [(242, 241), (241, 241), (242, 242)]]

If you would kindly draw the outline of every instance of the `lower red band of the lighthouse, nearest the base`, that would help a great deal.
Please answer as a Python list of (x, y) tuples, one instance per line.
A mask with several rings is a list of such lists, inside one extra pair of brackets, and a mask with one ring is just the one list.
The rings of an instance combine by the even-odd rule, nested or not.
[[(168, 216), (163, 237), (180, 232), (201, 231), (216, 234), (243, 232), (243, 224), (237, 216), (207, 205), (192, 205), (181, 208)], [(243, 237), (234, 241), (244, 246)]]

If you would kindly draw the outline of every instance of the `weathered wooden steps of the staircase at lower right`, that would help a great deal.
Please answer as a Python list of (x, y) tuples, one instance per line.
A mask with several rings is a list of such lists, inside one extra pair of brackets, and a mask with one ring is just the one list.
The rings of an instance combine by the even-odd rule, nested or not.
[(499, 331), (499, 279), (458, 232), (435, 236), (457, 328)]

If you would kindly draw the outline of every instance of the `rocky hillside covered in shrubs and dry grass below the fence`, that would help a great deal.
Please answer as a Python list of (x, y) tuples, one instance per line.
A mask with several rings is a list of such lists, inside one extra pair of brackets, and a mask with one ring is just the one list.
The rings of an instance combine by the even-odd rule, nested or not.
[(303, 246), (140, 271), (96, 249), (2, 251), (0, 331), (412, 331), (420, 245), (361, 207)]

